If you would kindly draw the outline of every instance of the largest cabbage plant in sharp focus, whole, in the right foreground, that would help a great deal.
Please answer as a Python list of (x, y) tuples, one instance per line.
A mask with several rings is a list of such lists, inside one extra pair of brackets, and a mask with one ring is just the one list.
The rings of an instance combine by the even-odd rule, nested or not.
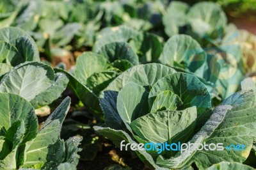
[[(239, 141), (246, 150), (136, 150), (148, 166), (180, 169), (195, 163), (206, 169), (223, 160), (244, 162), (255, 140), (255, 94), (242, 91), (212, 111), (209, 91), (198, 78), (160, 64), (138, 65), (119, 75), (103, 92), (106, 127), (94, 127), (116, 146), (126, 143), (223, 143)], [(243, 117), (241, 119), (240, 117)], [(246, 132), (244, 134), (244, 132)]]

